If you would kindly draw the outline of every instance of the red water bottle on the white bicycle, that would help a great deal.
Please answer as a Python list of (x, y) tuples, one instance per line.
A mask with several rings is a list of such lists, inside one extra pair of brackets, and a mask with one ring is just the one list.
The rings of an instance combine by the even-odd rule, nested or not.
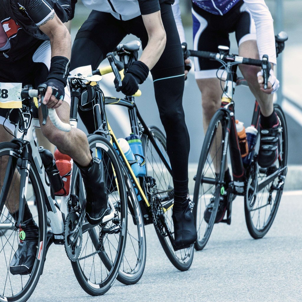
[(55, 195), (67, 196), (70, 191), (73, 160), (70, 156), (61, 153), (59, 150), (55, 151), (54, 157), (56, 160), (56, 166), (60, 171), (60, 176), (64, 183), (64, 187), (60, 191), (56, 192)]

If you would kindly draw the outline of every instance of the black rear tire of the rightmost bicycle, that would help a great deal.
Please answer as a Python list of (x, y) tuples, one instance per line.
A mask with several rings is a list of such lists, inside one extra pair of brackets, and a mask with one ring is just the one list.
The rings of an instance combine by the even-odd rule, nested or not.
[[(278, 116), (278, 118), (280, 120), (281, 127), (282, 127), (282, 132), (281, 132), (281, 135), (280, 135), (280, 140), (281, 140), (281, 154), (280, 154), (281, 161), (279, 162), (279, 167), (278, 167), (278, 169), (279, 169), (279, 168), (286, 167), (286, 165), (287, 165), (288, 133), (287, 133), (286, 119), (285, 119), (285, 115), (284, 115), (283, 110), (281, 109), (281, 107), (278, 104), (274, 104), (274, 109), (275, 109), (275, 112), (276, 112), (276, 114), (277, 114), (277, 116)], [(284, 176), (284, 180), (285, 180), (286, 170), (284, 170), (282, 172), (281, 176)], [(261, 179), (261, 180), (263, 179), (262, 175), (260, 173), (258, 173), (258, 178)], [(274, 181), (276, 179), (277, 178), (275, 178)], [(273, 185), (274, 185), (274, 182), (271, 183), (270, 190), (272, 189)], [(264, 195), (264, 192), (265, 192), (264, 189), (263, 189), (263, 195)], [(268, 195), (268, 198), (272, 198), (274, 191), (275, 190), (272, 189), (271, 197), (269, 197), (269, 195)], [(261, 218), (260, 218), (260, 210), (261, 209), (259, 209), (259, 219), (257, 218), (257, 223), (255, 225), (255, 220), (253, 219), (254, 217), (252, 217), (251, 212), (252, 211), (255, 212), (256, 210), (254, 208), (251, 209), (250, 202), (248, 201), (249, 199), (248, 199), (247, 195), (245, 194), (245, 198), (244, 198), (244, 212), (245, 212), (245, 218), (246, 218), (246, 226), (247, 226), (247, 229), (249, 231), (249, 234), (254, 239), (260, 239), (260, 238), (262, 238), (263, 236), (265, 236), (267, 234), (268, 230), (271, 228), (271, 225), (274, 222), (276, 214), (277, 214), (277, 211), (278, 211), (278, 207), (279, 207), (279, 204), (280, 204), (282, 193), (283, 193), (283, 186), (278, 191), (276, 191), (276, 195), (275, 195), (275, 198), (274, 198), (274, 201), (273, 201), (274, 204), (271, 207), (271, 213), (268, 216), (268, 220), (264, 221), (263, 227), (260, 227), (260, 220), (261, 220)], [(262, 197), (262, 199), (263, 199), (263, 197)], [(272, 201), (270, 201), (270, 202), (272, 202)], [(256, 202), (254, 204), (256, 204)], [(258, 204), (259, 204), (259, 201), (258, 201)], [(261, 204), (262, 204), (262, 201), (261, 201)], [(262, 208), (264, 209), (264, 207), (262, 207)], [(265, 215), (266, 215), (266, 207), (265, 207)], [(265, 220), (265, 217), (264, 217), (264, 220)], [(258, 227), (258, 221), (259, 221), (259, 227)]]

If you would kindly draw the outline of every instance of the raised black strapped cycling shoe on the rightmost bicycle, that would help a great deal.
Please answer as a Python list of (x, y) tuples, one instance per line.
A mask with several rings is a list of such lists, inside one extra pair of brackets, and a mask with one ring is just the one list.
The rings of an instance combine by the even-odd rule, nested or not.
[(280, 122), (272, 128), (261, 128), (258, 164), (262, 168), (268, 168), (278, 159), (280, 150)]

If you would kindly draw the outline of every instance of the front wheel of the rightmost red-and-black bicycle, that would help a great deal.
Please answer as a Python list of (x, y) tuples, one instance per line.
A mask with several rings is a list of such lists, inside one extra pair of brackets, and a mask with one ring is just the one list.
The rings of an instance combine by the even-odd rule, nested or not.
[[(221, 185), (218, 182), (221, 173), (224, 174), (225, 171), (225, 167), (221, 167), (225, 135), (224, 112), (218, 110), (207, 129), (195, 178), (193, 214), (198, 234), (196, 250), (202, 250), (206, 246), (215, 223), (221, 197)], [(207, 208), (211, 208), (211, 211), (206, 221), (204, 213)]]

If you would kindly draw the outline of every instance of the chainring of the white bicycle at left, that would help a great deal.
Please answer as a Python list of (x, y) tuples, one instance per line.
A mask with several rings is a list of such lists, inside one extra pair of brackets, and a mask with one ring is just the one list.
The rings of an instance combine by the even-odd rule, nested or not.
[[(82, 226), (76, 230), (79, 216), (79, 213), (73, 210), (67, 215), (64, 226), (65, 251), (69, 260), (72, 262), (77, 261), (82, 249)], [(72, 238), (73, 236), (74, 238)]]

